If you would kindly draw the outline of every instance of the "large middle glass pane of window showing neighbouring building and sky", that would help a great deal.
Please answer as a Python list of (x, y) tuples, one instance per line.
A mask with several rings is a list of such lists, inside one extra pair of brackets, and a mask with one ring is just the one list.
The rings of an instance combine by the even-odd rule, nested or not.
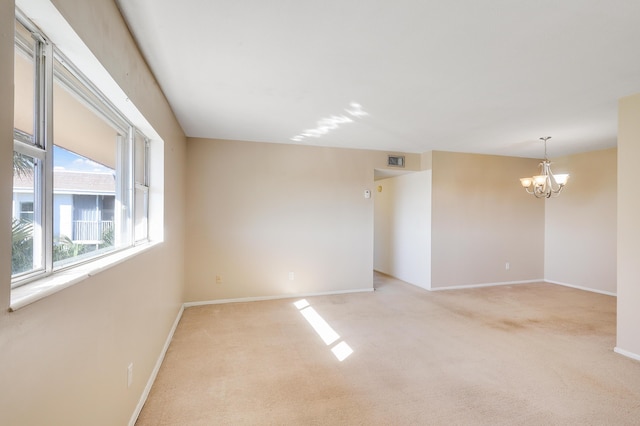
[(113, 250), (120, 132), (56, 62), (53, 87), (54, 267)]

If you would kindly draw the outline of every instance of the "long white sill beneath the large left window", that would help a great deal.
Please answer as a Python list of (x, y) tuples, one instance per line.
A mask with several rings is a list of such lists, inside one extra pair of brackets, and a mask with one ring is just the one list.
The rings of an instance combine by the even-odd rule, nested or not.
[(158, 242), (151, 242), (132, 247), (120, 252), (97, 259), (75, 268), (59, 271), (48, 277), (35, 280), (23, 286), (11, 290), (10, 312), (15, 312), (20, 308), (24, 308), (40, 299), (64, 290), (74, 284), (77, 284), (89, 277), (99, 274), (100, 272), (111, 268), (119, 263), (124, 262), (142, 252), (150, 250)]

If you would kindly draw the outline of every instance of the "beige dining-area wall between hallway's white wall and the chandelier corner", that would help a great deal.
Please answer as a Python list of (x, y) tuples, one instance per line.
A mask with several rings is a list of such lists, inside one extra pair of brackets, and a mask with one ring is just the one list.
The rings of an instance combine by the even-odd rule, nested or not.
[(432, 161), (432, 288), (542, 280), (544, 201), (518, 180), (539, 161), (438, 151)]

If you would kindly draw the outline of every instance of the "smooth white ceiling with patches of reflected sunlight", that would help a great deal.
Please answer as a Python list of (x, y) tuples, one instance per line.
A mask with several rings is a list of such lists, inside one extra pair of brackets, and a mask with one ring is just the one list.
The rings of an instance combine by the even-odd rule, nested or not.
[(554, 157), (640, 92), (638, 0), (118, 3), (192, 137)]

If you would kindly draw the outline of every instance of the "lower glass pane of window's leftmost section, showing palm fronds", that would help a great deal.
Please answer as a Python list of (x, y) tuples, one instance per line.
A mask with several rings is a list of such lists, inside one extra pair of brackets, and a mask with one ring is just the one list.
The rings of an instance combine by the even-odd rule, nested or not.
[[(36, 255), (35, 233), (39, 229), (34, 222), (36, 203), (36, 159), (13, 153), (13, 218), (11, 221), (11, 275), (30, 272), (41, 264)], [(36, 240), (37, 242), (37, 240)]]

